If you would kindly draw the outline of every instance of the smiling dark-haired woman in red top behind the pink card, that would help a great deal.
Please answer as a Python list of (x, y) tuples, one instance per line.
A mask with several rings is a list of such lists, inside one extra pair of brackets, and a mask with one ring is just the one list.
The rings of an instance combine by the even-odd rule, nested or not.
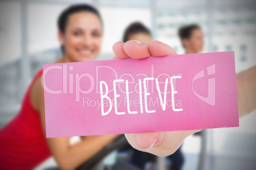
[[(59, 16), (58, 29), (64, 52), (58, 63), (90, 61), (99, 54), (103, 22), (92, 6), (70, 6)], [(42, 72), (34, 77), (17, 117), (0, 132), (0, 169), (32, 169), (50, 155), (60, 169), (75, 169), (117, 136), (84, 136), (72, 146), (69, 138), (46, 140)]]

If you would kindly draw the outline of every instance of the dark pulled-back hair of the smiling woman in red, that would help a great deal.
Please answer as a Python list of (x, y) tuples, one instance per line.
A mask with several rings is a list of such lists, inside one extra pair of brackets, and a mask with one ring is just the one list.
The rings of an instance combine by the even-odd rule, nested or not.
[[(75, 4), (71, 5), (66, 10), (62, 11), (60, 13), (58, 21), (57, 21), (57, 27), (60, 32), (64, 33), (66, 29), (66, 25), (68, 22), (68, 17), (72, 15), (73, 13), (78, 13), (78, 12), (90, 12), (94, 13), (99, 17), (99, 20), (101, 20), (101, 23), (103, 23), (103, 20), (101, 19), (101, 15), (99, 11), (94, 8), (93, 6), (90, 6), (89, 4)], [(64, 46), (61, 46), (62, 53), (64, 53)]]

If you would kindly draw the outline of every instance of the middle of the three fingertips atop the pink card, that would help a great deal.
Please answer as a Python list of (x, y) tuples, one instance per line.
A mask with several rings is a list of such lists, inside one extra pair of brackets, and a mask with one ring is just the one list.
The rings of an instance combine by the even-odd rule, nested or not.
[(130, 40), (124, 44), (125, 53), (134, 59), (141, 59), (147, 56), (152, 56), (148, 49), (148, 44), (141, 41)]

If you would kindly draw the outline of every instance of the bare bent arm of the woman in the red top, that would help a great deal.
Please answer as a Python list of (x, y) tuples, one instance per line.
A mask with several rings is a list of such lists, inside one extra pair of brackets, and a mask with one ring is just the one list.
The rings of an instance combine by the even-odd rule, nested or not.
[[(41, 124), (45, 133), (44, 91), (40, 79), (37, 79), (32, 86), (31, 103), (40, 113)], [(46, 140), (60, 169), (75, 169), (106, 147), (116, 136), (116, 134), (88, 136), (75, 145), (69, 144), (69, 137), (47, 138)]]

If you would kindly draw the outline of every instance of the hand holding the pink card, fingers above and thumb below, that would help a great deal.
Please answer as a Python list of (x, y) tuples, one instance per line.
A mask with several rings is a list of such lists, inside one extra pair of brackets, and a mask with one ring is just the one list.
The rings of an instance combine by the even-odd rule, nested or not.
[[(152, 41), (150, 44), (133, 40), (125, 43), (118, 41), (113, 45), (113, 51), (116, 55), (113, 59), (176, 55), (173, 48), (160, 41)], [(133, 148), (164, 157), (173, 154), (187, 136), (197, 131), (134, 133), (125, 134), (125, 137)]]

